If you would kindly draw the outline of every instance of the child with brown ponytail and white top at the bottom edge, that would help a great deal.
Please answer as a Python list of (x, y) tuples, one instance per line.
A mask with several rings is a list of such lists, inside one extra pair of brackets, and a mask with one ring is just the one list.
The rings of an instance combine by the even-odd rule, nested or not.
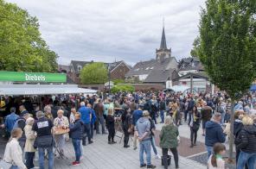
[(226, 147), (217, 142), (214, 144), (214, 152), (208, 159), (208, 169), (225, 169), (225, 161), (222, 156), (226, 153)]

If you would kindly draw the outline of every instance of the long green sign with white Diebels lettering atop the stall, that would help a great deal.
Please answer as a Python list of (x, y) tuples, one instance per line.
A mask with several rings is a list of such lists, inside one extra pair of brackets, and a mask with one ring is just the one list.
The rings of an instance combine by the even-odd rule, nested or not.
[(0, 71), (0, 81), (66, 83), (67, 76), (64, 73)]

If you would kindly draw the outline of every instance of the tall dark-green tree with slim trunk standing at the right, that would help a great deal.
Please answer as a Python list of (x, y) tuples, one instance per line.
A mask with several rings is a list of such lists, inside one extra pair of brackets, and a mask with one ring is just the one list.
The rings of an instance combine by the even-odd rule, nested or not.
[[(256, 77), (256, 1), (208, 0), (202, 9), (199, 56), (211, 81), (234, 102), (249, 89)], [(229, 160), (234, 136), (229, 140)]]

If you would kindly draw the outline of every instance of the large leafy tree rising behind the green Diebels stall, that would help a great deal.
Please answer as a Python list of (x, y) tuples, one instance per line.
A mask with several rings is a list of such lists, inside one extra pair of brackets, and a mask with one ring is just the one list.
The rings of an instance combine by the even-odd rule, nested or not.
[(42, 40), (36, 17), (0, 0), (0, 70), (56, 72), (56, 59)]

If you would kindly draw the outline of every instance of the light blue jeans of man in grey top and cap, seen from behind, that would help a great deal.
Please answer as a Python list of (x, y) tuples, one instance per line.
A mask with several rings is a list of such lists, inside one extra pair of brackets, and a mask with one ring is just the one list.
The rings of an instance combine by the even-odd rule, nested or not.
[(139, 142), (139, 162), (144, 165), (144, 152), (146, 153), (147, 165), (151, 165), (151, 147), (150, 140)]

